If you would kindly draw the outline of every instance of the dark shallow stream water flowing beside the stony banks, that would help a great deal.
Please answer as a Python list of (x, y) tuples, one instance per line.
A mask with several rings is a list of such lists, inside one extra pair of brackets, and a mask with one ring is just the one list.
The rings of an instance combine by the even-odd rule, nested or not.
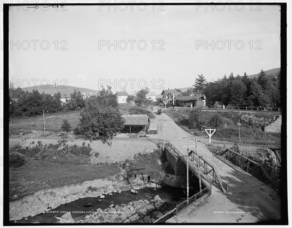
[[(195, 194), (198, 189), (190, 190), (190, 196)], [(71, 212), (74, 221), (79, 221), (84, 219), (86, 215), (90, 214), (96, 209), (106, 209), (109, 208), (111, 204), (114, 206), (127, 204), (131, 201), (136, 201), (140, 199), (151, 200), (156, 195), (168, 202), (177, 202), (179, 204), (186, 198), (185, 190), (182, 188), (174, 188), (164, 186), (161, 189), (155, 188), (143, 188), (137, 190), (138, 193), (131, 193), (130, 191), (123, 191), (121, 193), (112, 193), (112, 195), (105, 195), (105, 198), (81, 198), (77, 199), (71, 203), (60, 205), (59, 207), (49, 210), (46, 213), (37, 214), (35, 216), (29, 216), (27, 220), (21, 219), (15, 221), (16, 223), (57, 223), (56, 217), (61, 217), (66, 212)], [(170, 210), (170, 209), (168, 209)], [(164, 212), (164, 211), (162, 211)]]

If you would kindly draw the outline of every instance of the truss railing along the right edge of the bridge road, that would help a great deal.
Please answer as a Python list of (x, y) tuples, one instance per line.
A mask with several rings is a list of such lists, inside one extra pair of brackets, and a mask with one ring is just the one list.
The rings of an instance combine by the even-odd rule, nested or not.
[[(274, 189), (276, 190), (279, 189), (280, 187), (279, 181), (273, 180), (272, 177), (265, 170), (265, 168), (256, 161), (253, 161), (250, 158), (246, 158), (245, 156), (240, 155), (239, 153), (230, 149), (224, 150), (221, 154), (219, 154), (219, 156), (225, 158), (226, 160), (229, 160), (230, 162), (242, 168), (243, 170), (255, 176), (256, 178), (269, 184)], [(281, 166), (276, 167), (278, 168), (277, 173), (279, 173), (280, 167)]]

